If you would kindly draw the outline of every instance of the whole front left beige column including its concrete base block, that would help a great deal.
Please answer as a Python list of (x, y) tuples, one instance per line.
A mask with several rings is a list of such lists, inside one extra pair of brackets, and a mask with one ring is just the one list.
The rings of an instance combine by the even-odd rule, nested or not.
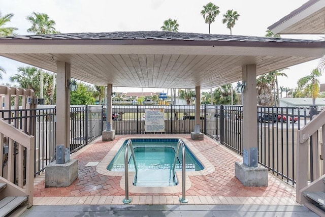
[(56, 159), (46, 166), (45, 188), (69, 187), (78, 177), (78, 161), (70, 159), (70, 64), (56, 62)]

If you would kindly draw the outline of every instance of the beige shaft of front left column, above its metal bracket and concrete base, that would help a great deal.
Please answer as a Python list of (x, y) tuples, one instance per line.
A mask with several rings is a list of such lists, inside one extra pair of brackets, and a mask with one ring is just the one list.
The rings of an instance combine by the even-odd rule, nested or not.
[(56, 144), (70, 147), (70, 64), (57, 61)]

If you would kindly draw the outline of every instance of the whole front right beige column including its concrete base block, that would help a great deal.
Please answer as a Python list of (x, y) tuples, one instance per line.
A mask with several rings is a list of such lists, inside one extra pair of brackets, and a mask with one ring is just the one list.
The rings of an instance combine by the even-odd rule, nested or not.
[(267, 186), (268, 170), (258, 166), (256, 65), (242, 67), (243, 81), (243, 162), (235, 162), (235, 176), (244, 186)]

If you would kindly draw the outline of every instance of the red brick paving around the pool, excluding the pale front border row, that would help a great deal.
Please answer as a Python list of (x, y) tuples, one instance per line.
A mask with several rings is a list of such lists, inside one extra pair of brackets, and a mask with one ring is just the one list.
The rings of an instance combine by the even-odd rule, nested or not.
[[(174, 135), (175, 136), (175, 135)], [(34, 186), (34, 197), (55, 196), (124, 196), (125, 191), (120, 188), (121, 176), (106, 176), (96, 172), (95, 166), (85, 165), (88, 162), (101, 161), (116, 141), (123, 137), (116, 136), (112, 142), (98, 141), (85, 147), (78, 155), (78, 178), (66, 188), (45, 188), (45, 182), (40, 181)], [(215, 171), (208, 175), (189, 176), (191, 187), (186, 191), (189, 196), (234, 196), (234, 197), (293, 197), (282, 188), (278, 181), (269, 178), (268, 187), (244, 187), (235, 177), (235, 162), (242, 157), (215, 141), (193, 141), (190, 135), (180, 135), (196, 146), (196, 148), (213, 164)], [(165, 195), (177, 194), (133, 194), (130, 195)]]

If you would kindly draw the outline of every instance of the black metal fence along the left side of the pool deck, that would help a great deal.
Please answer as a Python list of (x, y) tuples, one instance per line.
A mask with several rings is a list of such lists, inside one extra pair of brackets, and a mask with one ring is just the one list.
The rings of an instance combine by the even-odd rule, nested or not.
[[(102, 106), (72, 106), (70, 108), (71, 153), (102, 135), (102, 111)], [(0, 117), (26, 134), (35, 136), (34, 175), (44, 171), (55, 156), (55, 107), (38, 106), (37, 109), (0, 110)], [(17, 153), (18, 150), (14, 149), (14, 153)], [(16, 154), (14, 163), (16, 163)], [(3, 162), (3, 168), (6, 165), (7, 162)], [(26, 168), (26, 162), (24, 162), (24, 168)], [(16, 171), (14, 171), (15, 179)]]

